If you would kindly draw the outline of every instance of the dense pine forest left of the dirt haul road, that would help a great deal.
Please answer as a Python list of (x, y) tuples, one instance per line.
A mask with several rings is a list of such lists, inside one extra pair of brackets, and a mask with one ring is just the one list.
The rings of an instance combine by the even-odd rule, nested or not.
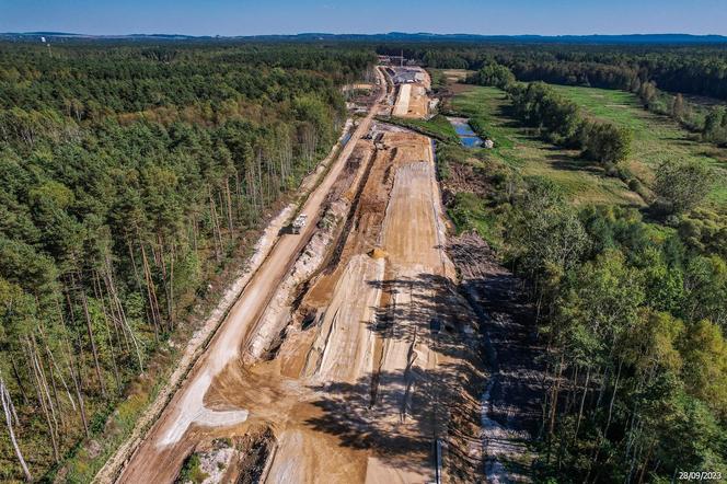
[(315, 46), (0, 48), (0, 480), (41, 477), (331, 149), (373, 61)]

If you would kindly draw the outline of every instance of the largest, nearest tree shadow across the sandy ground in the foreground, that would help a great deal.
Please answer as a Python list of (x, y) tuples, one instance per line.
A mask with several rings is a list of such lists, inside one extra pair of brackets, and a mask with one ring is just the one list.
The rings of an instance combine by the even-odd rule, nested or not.
[[(336, 436), (343, 446), (372, 450), (386, 465), (434, 475), (437, 439), (459, 450), (452, 439), (464, 438), (481, 450), (476, 395), (485, 381), (463, 374), (470, 369), (447, 364), (434, 370), (413, 368), (407, 377), (383, 371), (354, 383), (312, 387), (320, 394), (313, 405), (322, 416), (309, 418), (305, 425)], [(472, 402), (475, 405), (468, 406)], [(461, 468), (462, 457), (450, 453), (445, 465)], [(481, 466), (480, 453), (470, 457), (469, 463)]]

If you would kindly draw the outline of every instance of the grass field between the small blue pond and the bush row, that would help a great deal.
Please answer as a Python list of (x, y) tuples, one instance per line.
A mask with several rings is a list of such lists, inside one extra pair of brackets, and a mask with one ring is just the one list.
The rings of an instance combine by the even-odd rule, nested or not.
[(531, 136), (507, 115), (508, 101), (496, 88), (469, 87), (448, 107), (470, 117), (481, 136), (494, 140), (489, 154), (519, 170), (557, 183), (576, 204), (619, 204), (641, 206), (642, 198), (614, 177), (605, 176), (593, 163), (579, 159), (578, 151), (563, 150)]

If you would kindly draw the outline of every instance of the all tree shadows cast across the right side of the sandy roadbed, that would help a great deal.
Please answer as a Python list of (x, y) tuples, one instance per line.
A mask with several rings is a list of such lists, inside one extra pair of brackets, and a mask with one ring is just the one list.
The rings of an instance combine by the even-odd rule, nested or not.
[(389, 465), (425, 473), (432, 472), (439, 439), (450, 449), (451, 472), (473, 479), (483, 469), (480, 395), (486, 384), (475, 314), (446, 277), (417, 274), (369, 284), (389, 303), (374, 308), (374, 322), (367, 324), (406, 361), (388, 366), (384, 355), (378, 365), (388, 369), (353, 383), (312, 387), (322, 416), (307, 425), (344, 446), (371, 449)]

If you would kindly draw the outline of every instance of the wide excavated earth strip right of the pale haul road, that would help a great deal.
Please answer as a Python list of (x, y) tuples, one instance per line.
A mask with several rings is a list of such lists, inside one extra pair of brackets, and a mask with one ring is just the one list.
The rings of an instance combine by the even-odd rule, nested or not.
[(376, 126), (324, 219), (245, 356), (205, 396), (205, 407), (250, 412), (219, 435), (272, 429), (266, 482), (477, 480), (485, 379), (430, 140)]

